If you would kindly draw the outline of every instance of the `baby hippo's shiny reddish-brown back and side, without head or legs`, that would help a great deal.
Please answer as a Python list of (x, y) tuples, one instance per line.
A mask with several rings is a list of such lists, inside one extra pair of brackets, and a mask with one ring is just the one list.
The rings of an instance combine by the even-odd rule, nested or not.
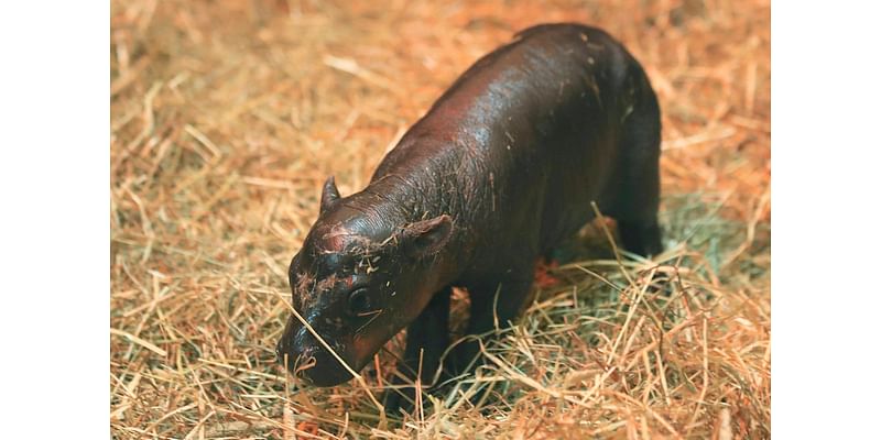
[(374, 179), (394, 174), (432, 188), (439, 205), (426, 211), (465, 221), (468, 248), (542, 252), (592, 217), (590, 201), (608, 198), (622, 121), (645, 87), (637, 62), (603, 31), (530, 28), (464, 73)]

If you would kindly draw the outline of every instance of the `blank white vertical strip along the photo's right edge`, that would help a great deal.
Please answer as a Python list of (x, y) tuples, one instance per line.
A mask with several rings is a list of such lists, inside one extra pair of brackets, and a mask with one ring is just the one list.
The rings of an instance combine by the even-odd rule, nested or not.
[(772, 433), (781, 439), (878, 436), (881, 24), (872, 4), (773, 2)]

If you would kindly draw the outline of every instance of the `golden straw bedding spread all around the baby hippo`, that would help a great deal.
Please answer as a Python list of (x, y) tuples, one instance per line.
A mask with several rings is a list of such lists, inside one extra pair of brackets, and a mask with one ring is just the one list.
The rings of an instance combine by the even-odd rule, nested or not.
[[(111, 15), (115, 437), (770, 436), (768, 1), (129, 0)], [(362, 188), (477, 57), (554, 21), (606, 29), (649, 72), (668, 252), (547, 268), (488, 367), (403, 424), (351, 384), (291, 393), (273, 348), (322, 180)], [(392, 360), (365, 370), (374, 393)], [(463, 399), (489, 385), (482, 407)]]

